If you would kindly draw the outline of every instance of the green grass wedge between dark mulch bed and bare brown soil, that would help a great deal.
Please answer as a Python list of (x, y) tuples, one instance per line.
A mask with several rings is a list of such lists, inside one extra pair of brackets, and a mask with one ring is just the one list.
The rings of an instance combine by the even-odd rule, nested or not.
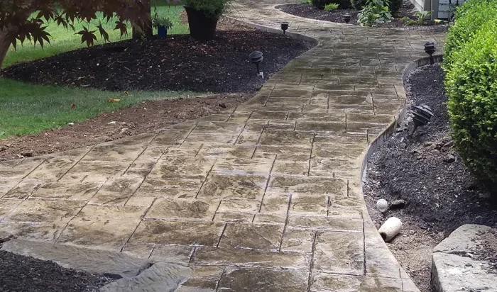
[[(28, 85), (0, 79), (0, 139), (40, 133), (78, 123), (99, 113), (116, 111), (141, 101), (197, 96), (187, 91), (110, 92), (60, 86)], [(109, 102), (107, 99), (120, 99)], [(72, 103), (75, 108), (72, 109)], [(98, 129), (95, 129), (98, 130)]]

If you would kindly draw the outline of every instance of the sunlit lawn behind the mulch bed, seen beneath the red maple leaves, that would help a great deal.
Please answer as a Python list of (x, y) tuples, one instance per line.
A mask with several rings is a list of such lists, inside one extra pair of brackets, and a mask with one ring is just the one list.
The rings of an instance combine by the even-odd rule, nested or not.
[[(165, 1), (158, 1), (157, 10), (160, 16), (165, 16), (170, 18), (173, 22), (173, 28), (168, 30), (168, 34), (187, 34), (190, 32), (187, 24), (180, 23), (180, 13), (184, 10), (182, 6), (170, 6), (165, 4)], [(152, 11), (153, 13), (153, 11)], [(102, 15), (100, 13), (99, 15)], [(90, 22), (89, 29), (97, 30), (95, 26), (99, 25), (100, 20), (94, 20)], [(131, 28), (128, 35), (124, 35), (123, 38), (120, 37), (119, 30), (114, 30), (115, 20), (109, 21), (109, 23), (102, 21), (107, 33), (109, 33), (109, 40), (115, 42), (118, 40), (126, 40), (131, 38)], [(86, 22), (75, 23), (75, 30), (82, 30), (83, 26), (88, 26)], [(50, 57), (53, 55), (60, 54), (61, 52), (68, 52), (70, 50), (76, 50), (80, 47), (86, 47), (86, 43), (81, 43), (81, 35), (75, 35), (71, 28), (69, 30), (65, 29), (63, 26), (58, 26), (57, 23), (48, 23), (48, 28), (46, 29), (52, 38), (50, 38), (50, 44), (46, 44), (45, 47), (40, 45), (32, 45), (28, 40), (24, 45), (18, 45), (17, 50), (13, 47), (10, 48), (4, 60), (4, 67), (8, 67), (16, 62), (27, 62), (31, 60), (38, 60), (44, 57)], [(154, 30), (156, 30), (154, 28)], [(155, 31), (156, 33), (156, 31)], [(98, 41), (95, 44), (102, 44), (104, 40), (101, 40), (97, 30)]]

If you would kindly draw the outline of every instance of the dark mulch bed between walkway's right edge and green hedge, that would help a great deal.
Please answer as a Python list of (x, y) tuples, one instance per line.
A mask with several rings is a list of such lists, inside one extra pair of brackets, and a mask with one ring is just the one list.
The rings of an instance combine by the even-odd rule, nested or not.
[[(429, 125), (408, 137), (410, 118), (400, 125), (368, 162), (364, 194), (371, 219), (379, 228), (392, 216), (403, 231), (388, 246), (422, 292), (430, 290), (431, 254), (461, 225), (497, 224), (497, 200), (479, 184), (455, 152), (444, 104), (444, 72), (439, 65), (416, 69), (406, 84), (411, 106), (426, 103), (434, 113)], [(409, 124), (408, 124), (409, 123)], [(385, 215), (376, 201), (403, 200)]]

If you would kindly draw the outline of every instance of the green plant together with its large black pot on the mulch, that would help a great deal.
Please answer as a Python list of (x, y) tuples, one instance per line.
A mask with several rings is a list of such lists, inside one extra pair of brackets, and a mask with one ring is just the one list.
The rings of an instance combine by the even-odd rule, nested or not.
[(196, 40), (212, 40), (217, 21), (231, 0), (182, 0), (188, 16), (190, 35)]

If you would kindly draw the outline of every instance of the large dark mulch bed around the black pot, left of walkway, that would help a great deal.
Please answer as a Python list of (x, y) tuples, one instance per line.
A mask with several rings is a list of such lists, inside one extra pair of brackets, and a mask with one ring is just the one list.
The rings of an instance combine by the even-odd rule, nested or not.
[(250, 52), (263, 52), (261, 70), (267, 80), (314, 45), (253, 28), (219, 30), (208, 42), (169, 35), (165, 40), (125, 40), (14, 64), (0, 77), (110, 91), (255, 92), (265, 80), (256, 76)]

